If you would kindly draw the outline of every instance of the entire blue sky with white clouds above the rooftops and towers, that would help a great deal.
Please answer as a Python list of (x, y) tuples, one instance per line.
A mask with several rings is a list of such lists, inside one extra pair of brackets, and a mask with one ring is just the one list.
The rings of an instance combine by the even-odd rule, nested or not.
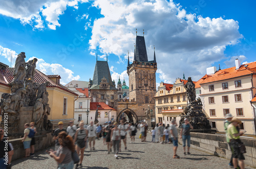
[[(199, 80), (206, 68), (255, 62), (255, 1), (219, 0), (0, 0), (0, 62), (14, 66), (20, 52), (37, 69), (71, 80), (93, 78), (96, 55), (112, 80), (129, 83), (127, 58), (143, 36), (148, 60), (154, 47), (161, 81)], [(129, 53), (129, 54), (128, 54)]]

